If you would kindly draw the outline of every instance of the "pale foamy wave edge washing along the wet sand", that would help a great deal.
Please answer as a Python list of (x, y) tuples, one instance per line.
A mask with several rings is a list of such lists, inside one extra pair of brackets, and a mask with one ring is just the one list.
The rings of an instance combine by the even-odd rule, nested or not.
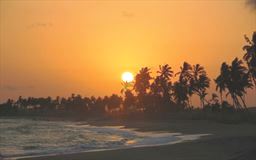
[[(7, 118), (7, 117), (6, 117)], [(26, 120), (26, 119), (24, 119)], [(42, 119), (38, 119), (38, 121), (44, 121)], [(48, 120), (47, 120), (48, 121)], [(46, 153), (46, 154), (37, 154), (37, 155), (17, 155), (15, 157), (6, 157), (5, 159), (24, 159), (24, 158), (30, 158), (30, 159), (34, 159), (34, 158), (40, 158), (40, 157), (49, 157), (49, 156), (64, 156), (64, 155), (68, 155), (68, 154), (80, 154), (80, 153), (88, 153), (88, 152), (101, 152), (101, 151), (113, 151), (113, 150), (119, 150), (119, 149), (131, 149), (131, 148), (142, 148), (142, 147), (158, 147), (158, 146), (165, 146), (165, 145), (173, 145), (176, 143), (184, 143), (187, 141), (194, 141), (197, 140), (201, 137), (205, 137), (205, 136), (209, 136), (210, 134), (183, 134), (183, 133), (177, 133), (177, 132), (170, 132), (170, 131), (142, 131), (140, 130), (140, 128), (131, 128), (131, 127), (127, 127), (127, 126), (120, 126), (120, 122), (116, 122), (113, 123), (112, 121), (93, 121), (94, 124), (92, 124), (92, 121), (90, 121), (89, 123), (87, 123), (87, 121), (84, 121), (84, 124), (88, 124), (91, 125), (92, 127), (113, 127), (113, 128), (118, 128), (121, 129), (123, 131), (130, 131), (130, 132), (134, 132), (136, 135), (145, 135), (146, 139), (144, 140), (136, 140), (136, 143), (132, 143), (131, 145), (124, 145), (124, 146), (119, 146), (119, 147), (114, 147), (114, 148), (102, 148), (102, 149), (91, 149), (91, 150), (78, 150), (78, 151), (70, 151), (67, 153)], [(82, 122), (83, 123), (83, 122)], [(119, 125), (118, 125), (119, 124)], [(134, 124), (134, 123), (131, 123)], [(79, 123), (80, 125), (80, 123)], [(144, 133), (143, 133), (144, 132)], [(154, 139), (153, 141), (151, 141), (150, 139), (148, 139), (149, 137), (158, 137), (159, 138), (164, 138), (164, 140), (157, 140)], [(148, 138), (147, 138), (148, 137)], [(173, 138), (172, 138), (173, 137)], [(148, 141), (150, 140), (150, 141)], [(138, 142), (138, 143), (137, 143)]]

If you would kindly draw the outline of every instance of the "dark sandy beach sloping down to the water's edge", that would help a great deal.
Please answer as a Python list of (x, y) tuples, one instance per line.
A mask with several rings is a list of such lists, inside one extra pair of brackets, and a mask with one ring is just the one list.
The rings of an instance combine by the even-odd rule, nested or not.
[(93, 125), (124, 125), (140, 131), (210, 134), (198, 140), (171, 145), (116, 149), (56, 156), (23, 158), (22, 160), (253, 160), (256, 157), (256, 125), (224, 124), (207, 120), (159, 121), (91, 121)]

